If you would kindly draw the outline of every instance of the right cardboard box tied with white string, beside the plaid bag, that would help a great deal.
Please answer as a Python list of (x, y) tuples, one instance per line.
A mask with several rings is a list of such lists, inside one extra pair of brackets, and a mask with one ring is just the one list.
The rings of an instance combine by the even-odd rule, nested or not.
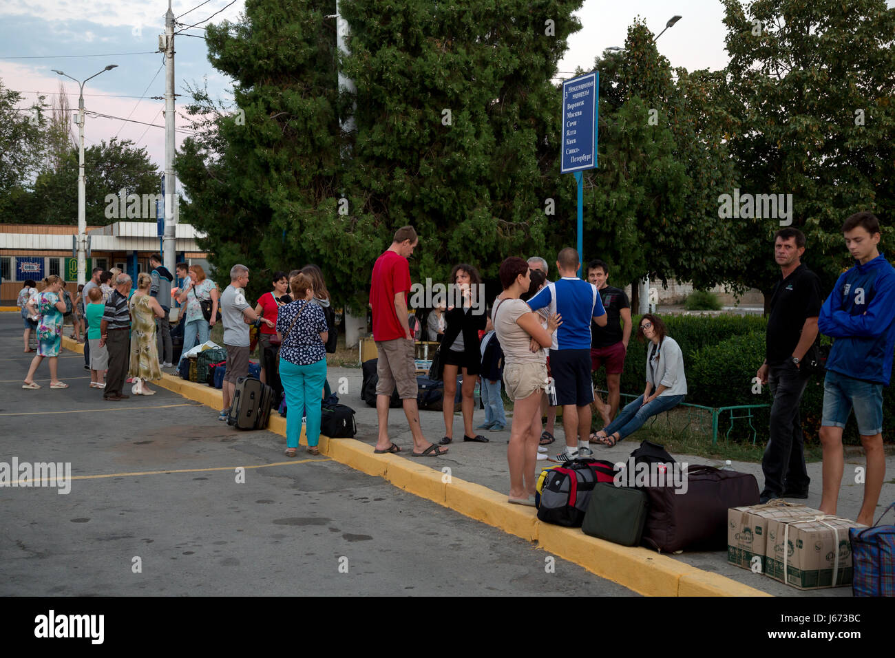
[(768, 521), (764, 573), (797, 589), (851, 584), (848, 518), (816, 515)]

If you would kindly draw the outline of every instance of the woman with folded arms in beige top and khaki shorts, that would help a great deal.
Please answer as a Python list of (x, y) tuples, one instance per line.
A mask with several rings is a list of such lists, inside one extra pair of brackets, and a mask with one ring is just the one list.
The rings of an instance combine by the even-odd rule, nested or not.
[[(534, 469), (541, 439), (541, 391), (547, 385), (547, 356), (552, 334), (562, 324), (553, 314), (548, 329), (519, 296), (528, 292), (528, 263), (516, 256), (500, 264), (501, 293), (491, 311), (491, 323), (504, 351), (504, 387), (514, 402), (513, 427), (507, 446), (509, 502), (534, 507)], [(533, 342), (534, 341), (534, 342)], [(536, 344), (541, 349), (532, 350)]]

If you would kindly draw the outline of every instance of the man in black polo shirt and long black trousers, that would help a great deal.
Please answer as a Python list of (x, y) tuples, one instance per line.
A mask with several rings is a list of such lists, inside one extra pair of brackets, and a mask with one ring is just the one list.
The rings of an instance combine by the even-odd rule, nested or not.
[(764, 363), (758, 380), (771, 387), (771, 432), (764, 449), (764, 490), (761, 501), (807, 498), (811, 479), (805, 470), (805, 441), (798, 405), (809, 374), (802, 368), (817, 338), (821, 312), (821, 282), (801, 262), (805, 235), (782, 228), (774, 235), (774, 259), (781, 278), (771, 296), (765, 335)]

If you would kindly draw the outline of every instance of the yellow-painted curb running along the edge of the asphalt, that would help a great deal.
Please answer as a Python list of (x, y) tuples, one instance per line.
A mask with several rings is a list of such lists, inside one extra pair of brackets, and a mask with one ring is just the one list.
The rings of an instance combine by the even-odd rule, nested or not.
[[(17, 310), (17, 309), (16, 309)], [(66, 349), (83, 353), (83, 346), (63, 337)], [(206, 384), (185, 381), (164, 373), (158, 384), (183, 397), (219, 409), (223, 394)], [(268, 431), (286, 436), (286, 418), (270, 416)], [(307, 445), (304, 430), (302, 445)], [(544, 551), (575, 562), (599, 577), (649, 596), (771, 596), (728, 577), (713, 574), (642, 547), (621, 546), (590, 537), (580, 528), (541, 523), (534, 508), (507, 502), (506, 494), (477, 483), (449, 478), (413, 457), (377, 455), (373, 447), (353, 439), (329, 439), (320, 435), (320, 453), (362, 473), (388, 480), (399, 489), (433, 500), (466, 517), (537, 541)]]

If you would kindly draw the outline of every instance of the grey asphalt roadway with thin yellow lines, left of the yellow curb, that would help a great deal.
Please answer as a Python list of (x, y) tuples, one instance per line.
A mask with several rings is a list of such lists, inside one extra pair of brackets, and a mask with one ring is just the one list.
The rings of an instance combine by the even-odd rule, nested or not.
[(288, 460), (284, 438), (161, 387), (106, 402), (81, 355), (59, 356), (69, 389), (49, 389), (46, 360), (21, 389), (21, 331), (0, 313), (0, 470), (71, 479), (0, 486), (0, 595), (634, 595), (381, 478)]

